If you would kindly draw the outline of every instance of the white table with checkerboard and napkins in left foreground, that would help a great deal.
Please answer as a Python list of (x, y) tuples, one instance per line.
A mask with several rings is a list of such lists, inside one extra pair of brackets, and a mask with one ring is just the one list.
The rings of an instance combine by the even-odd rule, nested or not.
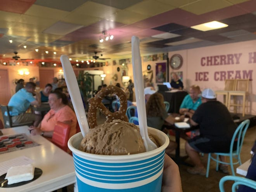
[(33, 165), (40, 168), (43, 174), (35, 181), (19, 187), (0, 188), (0, 192), (51, 192), (76, 182), (71, 155), (40, 135), (31, 136), (28, 126), (2, 129), (2, 132), (3, 136), (26, 133), (31, 140), (40, 145), (1, 154), (0, 162), (26, 156), (34, 160)]

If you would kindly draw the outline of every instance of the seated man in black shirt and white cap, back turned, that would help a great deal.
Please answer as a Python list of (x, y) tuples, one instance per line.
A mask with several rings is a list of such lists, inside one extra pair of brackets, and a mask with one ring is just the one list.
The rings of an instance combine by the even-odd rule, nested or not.
[[(227, 107), (216, 100), (213, 90), (202, 92), (202, 104), (197, 108), (190, 124), (199, 125), (200, 135), (188, 140), (185, 149), (193, 164), (187, 171), (192, 174), (206, 175), (206, 169), (201, 162), (199, 152), (229, 152), (230, 142), (237, 125), (234, 123)], [(225, 156), (220, 156), (225, 162)], [(228, 173), (228, 167), (220, 164), (219, 170)]]

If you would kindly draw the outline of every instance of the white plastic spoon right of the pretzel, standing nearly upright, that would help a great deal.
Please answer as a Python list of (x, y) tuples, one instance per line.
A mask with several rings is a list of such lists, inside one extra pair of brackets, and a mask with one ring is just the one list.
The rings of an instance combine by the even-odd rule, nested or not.
[(156, 149), (157, 146), (156, 144), (154, 144), (154, 142), (150, 140), (149, 135), (147, 133), (147, 116), (143, 85), (144, 81), (142, 77), (142, 63), (140, 57), (140, 40), (136, 36), (131, 37), (131, 55), (140, 135), (144, 141), (146, 150), (150, 151)]

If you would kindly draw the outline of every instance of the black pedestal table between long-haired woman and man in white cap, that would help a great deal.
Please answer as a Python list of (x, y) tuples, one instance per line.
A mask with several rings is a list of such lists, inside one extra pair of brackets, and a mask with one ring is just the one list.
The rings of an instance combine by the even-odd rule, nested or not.
[(180, 157), (180, 135), (198, 129), (197, 126), (191, 126), (190, 128), (178, 128), (175, 125), (171, 125), (170, 123), (165, 122), (163, 127), (166, 127), (167, 129), (171, 129), (175, 131), (175, 142), (177, 144), (177, 148), (175, 150), (175, 161), (177, 164), (182, 163), (188, 166), (191, 166), (188, 163), (185, 163), (184, 161), (182, 161), (182, 157)]

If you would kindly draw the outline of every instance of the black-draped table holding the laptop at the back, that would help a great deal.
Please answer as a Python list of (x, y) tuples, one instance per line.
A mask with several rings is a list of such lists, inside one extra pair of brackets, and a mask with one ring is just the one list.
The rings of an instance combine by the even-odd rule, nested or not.
[(158, 91), (164, 96), (164, 100), (170, 103), (169, 113), (179, 113), (180, 105), (184, 97), (188, 94), (185, 91)]

